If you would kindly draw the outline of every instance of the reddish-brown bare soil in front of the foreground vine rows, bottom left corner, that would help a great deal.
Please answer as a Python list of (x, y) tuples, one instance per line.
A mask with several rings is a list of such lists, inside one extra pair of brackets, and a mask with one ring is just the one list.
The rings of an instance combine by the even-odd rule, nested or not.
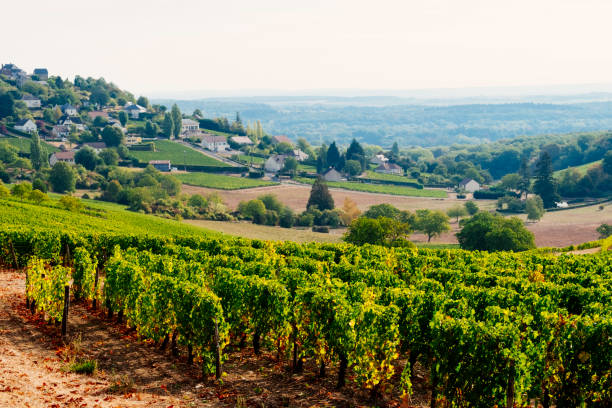
[[(276, 353), (255, 357), (250, 348), (228, 349), (221, 382), (187, 364), (88, 305), (71, 305), (69, 338), (25, 307), (24, 273), (0, 270), (0, 406), (4, 407), (360, 407), (374, 401), (365, 391), (335, 388), (305, 364), (292, 374)], [(72, 350), (72, 351), (71, 351)], [(70, 354), (98, 361), (92, 376), (66, 370)], [(73, 356), (74, 357), (74, 356)], [(425, 407), (425, 373), (417, 365), (412, 399), (403, 407)], [(401, 370), (398, 367), (398, 375)], [(397, 382), (395, 382), (397, 383)], [(400, 406), (397, 390), (378, 406)]]

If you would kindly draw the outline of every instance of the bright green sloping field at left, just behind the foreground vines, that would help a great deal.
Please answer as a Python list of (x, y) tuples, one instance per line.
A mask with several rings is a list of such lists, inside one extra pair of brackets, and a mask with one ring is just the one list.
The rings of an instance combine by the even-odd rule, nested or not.
[(77, 232), (121, 232), (159, 236), (219, 235), (202, 228), (125, 210), (124, 206), (94, 200), (83, 200), (85, 210), (76, 213), (63, 209), (53, 195), (51, 202), (35, 205), (27, 201), (0, 199), (0, 224), (31, 227), (33, 225)]

